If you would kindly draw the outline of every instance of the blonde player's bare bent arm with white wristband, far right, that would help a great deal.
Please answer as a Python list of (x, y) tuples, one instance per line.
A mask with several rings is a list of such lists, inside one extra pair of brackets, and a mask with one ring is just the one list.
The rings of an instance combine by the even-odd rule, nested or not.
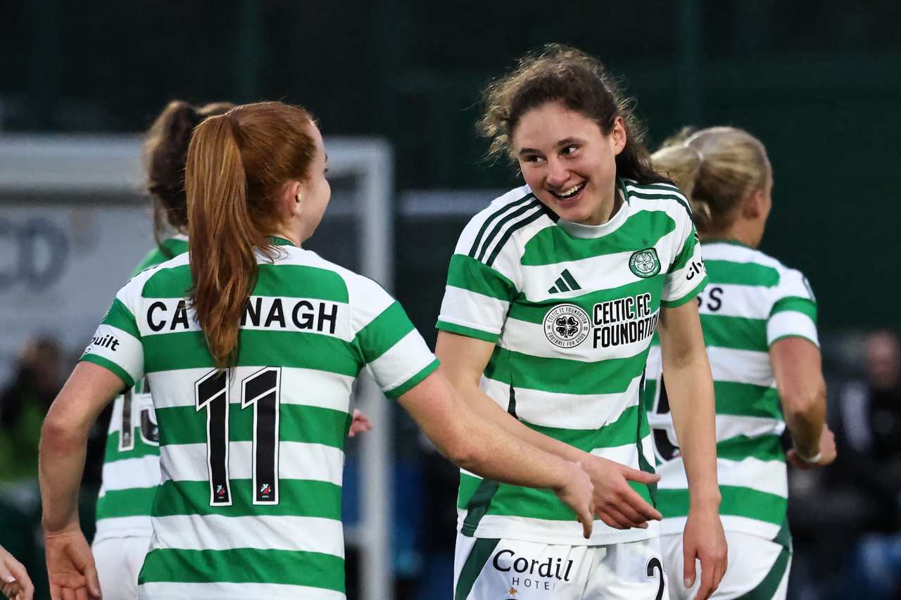
[(826, 426), (826, 383), (820, 350), (806, 338), (783, 338), (770, 347), (769, 361), (795, 445), (788, 450), (788, 461), (804, 469), (828, 465), (835, 459), (835, 436)]

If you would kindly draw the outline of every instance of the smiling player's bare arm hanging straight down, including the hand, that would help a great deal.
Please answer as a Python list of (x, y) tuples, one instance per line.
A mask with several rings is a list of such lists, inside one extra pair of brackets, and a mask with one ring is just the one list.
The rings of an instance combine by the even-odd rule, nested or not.
[(700, 559), (701, 584), (696, 598), (705, 600), (720, 585), (727, 557), (716, 480), (714, 382), (695, 302), (660, 308), (660, 354), (688, 479), (683, 577), (686, 587), (695, 584), (695, 559)]

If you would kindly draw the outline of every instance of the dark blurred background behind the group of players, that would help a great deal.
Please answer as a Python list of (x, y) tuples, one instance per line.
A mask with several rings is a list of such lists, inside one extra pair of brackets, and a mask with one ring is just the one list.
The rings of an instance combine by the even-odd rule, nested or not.
[[(20, 468), (31, 458), (14, 465), (8, 447), (33, 441), (19, 430), (34, 423), (13, 419), (7, 398), (26, 384), (33, 397), (52, 398), (152, 246), (138, 145), (174, 98), (284, 100), (315, 114), (327, 140), (365, 138), (387, 149), (393, 167), (383, 173), (389, 202), (381, 216), (393, 259), (383, 279), (431, 343), (460, 229), (497, 191), (517, 185), (513, 168), (483, 159), (478, 93), (524, 52), (568, 43), (623, 77), (651, 148), (683, 125), (733, 124), (766, 144), (775, 188), (761, 250), (801, 269), (815, 290), (833, 429), (851, 418), (843, 397), (858, 406), (842, 390), (866, 380), (866, 336), (901, 328), (895, 0), (0, 0), (0, 15), (0, 544), (32, 572), (43, 568), (40, 507)], [(41, 155), (45, 167), (15, 145), (26, 142), (55, 149)], [(53, 159), (66, 144), (77, 148), (72, 171), (62, 168), (71, 153)], [(366, 254), (356, 235), (366, 215), (341, 206), (361, 193), (360, 177), (336, 177), (332, 220), (311, 241), (350, 268)], [(58, 353), (59, 373), (29, 370), (38, 341)], [(898, 369), (890, 356), (887, 364)], [(901, 406), (888, 405), (879, 422), (901, 432)], [(403, 415), (392, 423), (395, 595), (450, 598), (455, 471)], [(10, 441), (13, 428), (20, 437)], [(103, 428), (95, 444), (102, 448)], [(901, 564), (892, 563), (901, 560), (901, 445), (880, 452), (874, 462), (793, 480), (793, 598), (854, 597), (849, 590), (869, 589), (862, 586), (880, 561)], [(353, 495), (352, 447), (348, 462)], [(861, 469), (878, 484), (848, 477)], [(89, 526), (96, 473), (86, 474), (85, 490)], [(894, 507), (885, 504), (892, 494)], [(352, 524), (360, 500), (347, 502)], [(873, 535), (887, 543), (869, 544)], [(869, 597), (880, 597), (874, 589)]]

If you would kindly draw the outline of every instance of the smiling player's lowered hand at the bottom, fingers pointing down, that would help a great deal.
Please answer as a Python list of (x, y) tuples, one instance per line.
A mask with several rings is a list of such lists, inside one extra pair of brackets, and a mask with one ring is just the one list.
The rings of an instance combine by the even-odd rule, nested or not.
[(719, 587), (728, 564), (726, 534), (723, 522), (715, 508), (688, 509), (688, 519), (682, 537), (682, 552), (685, 568), (682, 576), (684, 585), (695, 585), (695, 559), (701, 561), (701, 583), (697, 588), (696, 600), (706, 600)]

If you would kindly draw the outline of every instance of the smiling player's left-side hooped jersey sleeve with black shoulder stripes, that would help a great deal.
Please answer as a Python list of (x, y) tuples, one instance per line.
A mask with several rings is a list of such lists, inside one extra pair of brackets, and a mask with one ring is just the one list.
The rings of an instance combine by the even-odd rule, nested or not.
[(441, 300), (438, 329), (465, 335), (469, 338), (495, 343), (504, 328), (517, 287), (518, 257), (514, 257), (514, 244), (507, 242), (487, 262), (475, 258), (478, 229), (482, 226), (477, 215), (460, 235), (457, 249), (448, 268), (447, 286)]

